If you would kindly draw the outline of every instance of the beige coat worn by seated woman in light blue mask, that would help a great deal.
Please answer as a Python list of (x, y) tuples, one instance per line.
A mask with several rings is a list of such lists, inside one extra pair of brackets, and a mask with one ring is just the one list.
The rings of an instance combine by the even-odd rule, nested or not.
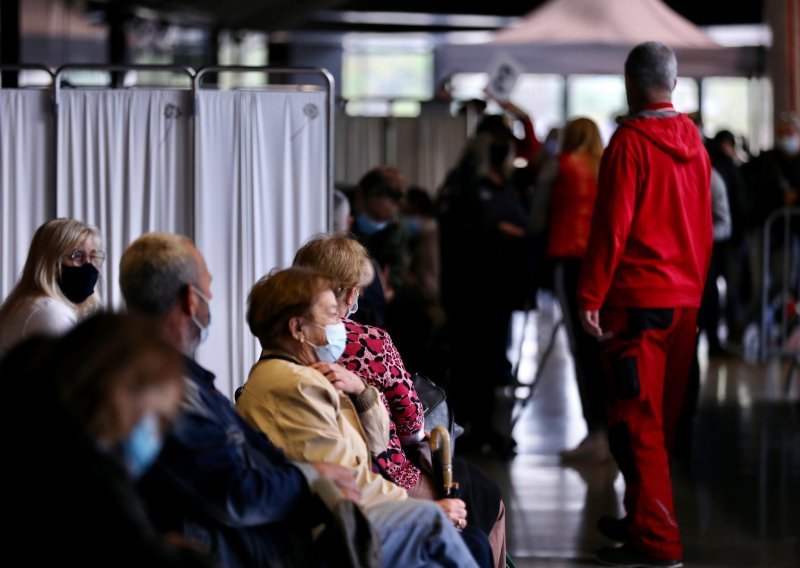
[(389, 443), (389, 415), (374, 387), (354, 403), (315, 369), (267, 359), (250, 370), (236, 409), (289, 458), (352, 468), (365, 508), (406, 498), (372, 471), (370, 448), (379, 453)]

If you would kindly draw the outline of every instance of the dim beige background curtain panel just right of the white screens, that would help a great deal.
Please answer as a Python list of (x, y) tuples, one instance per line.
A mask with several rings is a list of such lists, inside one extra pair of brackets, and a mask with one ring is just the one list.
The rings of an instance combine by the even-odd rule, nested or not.
[(355, 185), (370, 169), (386, 162), (386, 119), (336, 114), (334, 143), (338, 183)]

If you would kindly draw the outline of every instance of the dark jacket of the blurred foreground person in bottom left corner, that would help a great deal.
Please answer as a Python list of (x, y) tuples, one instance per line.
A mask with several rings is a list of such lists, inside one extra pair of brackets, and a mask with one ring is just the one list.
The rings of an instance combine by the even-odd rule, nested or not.
[[(4, 377), (5, 378), (5, 377)], [(3, 507), (5, 538), (36, 566), (210, 568), (205, 555), (166, 544), (134, 480), (36, 387), (37, 416), (6, 444), (15, 456)], [(21, 408), (30, 410), (24, 400)], [(30, 423), (31, 421), (28, 420)], [(19, 422), (17, 423), (19, 425)], [(19, 447), (17, 447), (19, 446)], [(20, 451), (15, 451), (15, 448)]]

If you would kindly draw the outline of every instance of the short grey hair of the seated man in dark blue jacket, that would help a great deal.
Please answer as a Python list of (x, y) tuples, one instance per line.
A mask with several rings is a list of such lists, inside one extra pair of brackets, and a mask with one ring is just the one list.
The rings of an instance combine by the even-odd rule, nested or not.
[(129, 310), (166, 314), (187, 286), (196, 286), (200, 269), (192, 241), (172, 233), (147, 233), (122, 254), (119, 286)]

